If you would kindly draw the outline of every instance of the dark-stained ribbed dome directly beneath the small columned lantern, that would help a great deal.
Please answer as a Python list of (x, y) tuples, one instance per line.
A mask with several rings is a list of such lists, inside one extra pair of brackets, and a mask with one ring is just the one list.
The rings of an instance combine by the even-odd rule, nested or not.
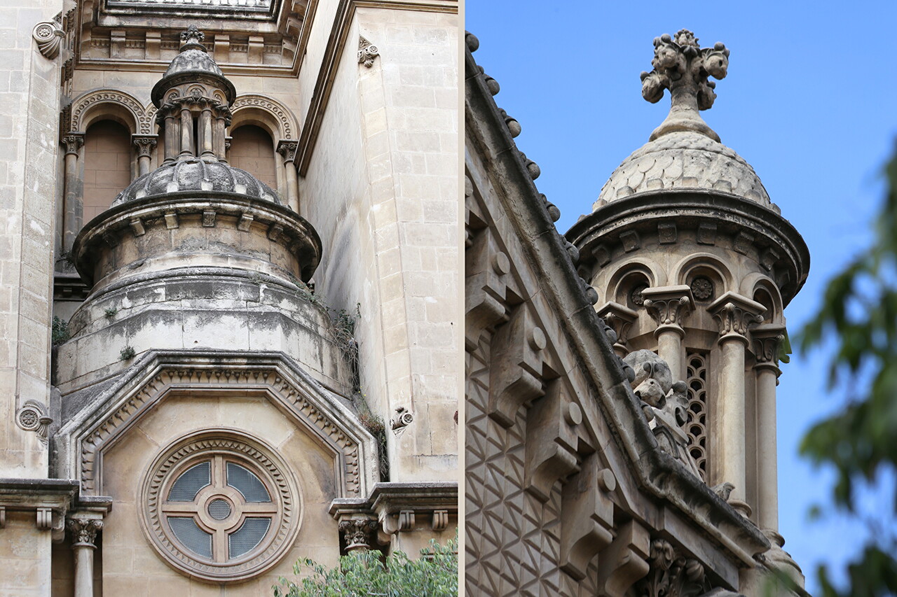
[(282, 205), (270, 186), (246, 170), (234, 168), (224, 161), (187, 158), (163, 163), (158, 169), (138, 177), (118, 194), (112, 205), (135, 201), (151, 195), (167, 195), (184, 191), (237, 193)]

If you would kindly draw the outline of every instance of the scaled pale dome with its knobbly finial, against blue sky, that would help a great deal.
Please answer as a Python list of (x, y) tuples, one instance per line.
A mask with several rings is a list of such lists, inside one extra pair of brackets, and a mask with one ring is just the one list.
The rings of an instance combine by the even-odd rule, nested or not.
[(749, 201), (771, 205), (760, 177), (735, 151), (719, 142), (699, 113), (716, 99), (716, 84), (728, 69), (728, 49), (721, 43), (700, 48), (689, 30), (673, 39), (654, 39), (654, 70), (641, 74), (642, 96), (657, 102), (669, 90), (669, 116), (651, 134), (649, 142), (620, 164), (601, 189), (593, 206), (648, 191), (712, 190), (738, 195)]

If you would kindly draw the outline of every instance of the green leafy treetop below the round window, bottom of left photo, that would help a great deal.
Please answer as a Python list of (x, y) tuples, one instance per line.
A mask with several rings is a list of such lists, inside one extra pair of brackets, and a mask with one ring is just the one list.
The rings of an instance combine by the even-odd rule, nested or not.
[(295, 583), (281, 576), (274, 597), (456, 597), (457, 533), (445, 546), (431, 541), (418, 559), (402, 551), (386, 558), (376, 550), (353, 551), (337, 567), (305, 558), (292, 569), (296, 575), (310, 574)]

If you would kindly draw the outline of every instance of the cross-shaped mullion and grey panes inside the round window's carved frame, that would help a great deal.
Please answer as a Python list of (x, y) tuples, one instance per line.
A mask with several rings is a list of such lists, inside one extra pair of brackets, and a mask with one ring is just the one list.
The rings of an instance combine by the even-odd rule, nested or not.
[(256, 549), (278, 514), (260, 476), (222, 455), (181, 472), (161, 511), (181, 545), (218, 564)]

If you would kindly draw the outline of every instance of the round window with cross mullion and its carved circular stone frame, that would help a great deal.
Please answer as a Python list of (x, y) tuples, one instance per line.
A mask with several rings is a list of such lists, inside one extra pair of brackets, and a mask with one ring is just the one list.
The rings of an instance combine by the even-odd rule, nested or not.
[(173, 567), (206, 580), (265, 571), (299, 530), (299, 490), (274, 450), (242, 434), (186, 437), (144, 482), (143, 526)]

